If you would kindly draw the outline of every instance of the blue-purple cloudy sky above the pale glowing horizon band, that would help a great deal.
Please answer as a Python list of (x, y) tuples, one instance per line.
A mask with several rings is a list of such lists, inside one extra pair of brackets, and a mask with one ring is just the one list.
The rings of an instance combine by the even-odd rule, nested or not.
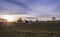
[(60, 17), (60, 0), (0, 0), (0, 15)]

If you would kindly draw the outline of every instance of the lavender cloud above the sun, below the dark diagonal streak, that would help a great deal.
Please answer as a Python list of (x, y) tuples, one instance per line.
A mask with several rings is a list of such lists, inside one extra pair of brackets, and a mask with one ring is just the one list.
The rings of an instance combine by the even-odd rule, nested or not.
[(29, 8), (17, 5), (13, 1), (0, 1), (0, 14), (27, 14)]

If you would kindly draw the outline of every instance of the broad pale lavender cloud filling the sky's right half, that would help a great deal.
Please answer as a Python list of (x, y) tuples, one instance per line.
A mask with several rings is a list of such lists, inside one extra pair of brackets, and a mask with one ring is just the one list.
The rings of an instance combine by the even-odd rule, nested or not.
[[(58, 1), (57, 1), (58, 2)], [(60, 15), (60, 6), (56, 1), (42, 1), (42, 3), (37, 2), (34, 5), (30, 6), (32, 11), (29, 11), (29, 14), (35, 16), (59, 16)]]

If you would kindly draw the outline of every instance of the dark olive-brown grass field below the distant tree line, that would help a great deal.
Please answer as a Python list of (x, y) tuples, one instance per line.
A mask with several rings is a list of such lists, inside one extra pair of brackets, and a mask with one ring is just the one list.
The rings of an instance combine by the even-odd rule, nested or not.
[(0, 37), (59, 37), (60, 23), (13, 23), (0, 30)]

